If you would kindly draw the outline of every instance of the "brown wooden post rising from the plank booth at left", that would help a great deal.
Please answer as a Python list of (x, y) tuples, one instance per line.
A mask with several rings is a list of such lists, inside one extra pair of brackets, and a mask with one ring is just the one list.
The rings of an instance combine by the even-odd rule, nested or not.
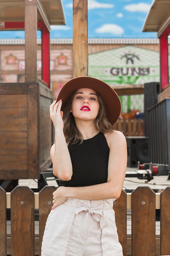
[(25, 0), (25, 82), (37, 81), (37, 0)]

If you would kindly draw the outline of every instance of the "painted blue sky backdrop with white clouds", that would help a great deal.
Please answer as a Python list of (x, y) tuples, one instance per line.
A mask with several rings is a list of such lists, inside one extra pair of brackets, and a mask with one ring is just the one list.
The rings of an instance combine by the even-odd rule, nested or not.
[[(62, 3), (66, 25), (51, 26), (51, 38), (73, 37), (73, 1)], [(151, 4), (152, 0), (88, 0), (88, 38), (157, 38), (155, 32), (142, 32)], [(24, 31), (0, 31), (0, 38), (24, 38)]]

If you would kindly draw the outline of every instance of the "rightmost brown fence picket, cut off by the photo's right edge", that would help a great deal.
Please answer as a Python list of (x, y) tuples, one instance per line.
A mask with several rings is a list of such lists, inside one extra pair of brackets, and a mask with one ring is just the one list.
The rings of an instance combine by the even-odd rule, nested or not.
[(161, 255), (170, 255), (170, 187), (161, 192), (160, 204), (160, 250)]

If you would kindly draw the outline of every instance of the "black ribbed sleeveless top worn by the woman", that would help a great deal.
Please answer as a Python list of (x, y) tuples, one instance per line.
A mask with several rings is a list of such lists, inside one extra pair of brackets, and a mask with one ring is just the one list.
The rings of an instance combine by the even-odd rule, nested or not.
[(68, 144), (73, 165), (71, 180), (60, 186), (90, 186), (107, 182), (109, 147), (102, 132), (82, 144)]

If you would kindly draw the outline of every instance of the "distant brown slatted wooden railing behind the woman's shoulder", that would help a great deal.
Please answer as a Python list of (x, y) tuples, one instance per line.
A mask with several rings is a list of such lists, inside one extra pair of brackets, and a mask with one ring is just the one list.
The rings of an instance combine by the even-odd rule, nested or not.
[(125, 136), (144, 136), (144, 120), (141, 118), (119, 119), (113, 128)]

